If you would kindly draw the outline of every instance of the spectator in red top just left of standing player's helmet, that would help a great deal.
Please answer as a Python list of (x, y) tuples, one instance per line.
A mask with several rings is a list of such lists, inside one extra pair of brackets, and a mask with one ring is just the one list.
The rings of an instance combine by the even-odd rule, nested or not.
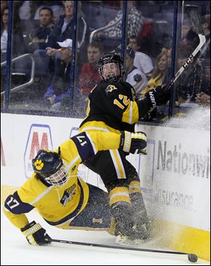
[(98, 42), (92, 42), (87, 47), (88, 63), (82, 66), (79, 75), (79, 91), (82, 96), (85, 96), (85, 99), (87, 99), (91, 89), (101, 81), (97, 63), (103, 56), (103, 52), (103, 45)]

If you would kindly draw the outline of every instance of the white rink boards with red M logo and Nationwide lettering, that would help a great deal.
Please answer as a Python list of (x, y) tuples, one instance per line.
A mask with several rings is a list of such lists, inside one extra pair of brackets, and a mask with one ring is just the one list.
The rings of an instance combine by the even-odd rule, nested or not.
[[(30, 177), (40, 148), (55, 149), (77, 134), (82, 120), (1, 113), (1, 184), (20, 186)], [(129, 156), (141, 178), (148, 213), (210, 231), (210, 132), (141, 126), (148, 156)], [(101, 178), (81, 165), (85, 181), (105, 189)]]

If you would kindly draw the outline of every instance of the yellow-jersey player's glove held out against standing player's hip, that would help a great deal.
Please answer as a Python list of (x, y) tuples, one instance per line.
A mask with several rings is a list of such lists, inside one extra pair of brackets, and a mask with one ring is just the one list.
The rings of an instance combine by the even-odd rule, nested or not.
[(120, 148), (127, 153), (146, 154), (146, 134), (143, 132), (121, 132)]

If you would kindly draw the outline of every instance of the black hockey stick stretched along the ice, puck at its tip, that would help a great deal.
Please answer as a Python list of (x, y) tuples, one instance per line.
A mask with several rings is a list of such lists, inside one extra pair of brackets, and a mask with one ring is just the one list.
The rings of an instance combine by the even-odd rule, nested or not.
[(179, 251), (159, 251), (156, 249), (147, 249), (147, 248), (130, 248), (127, 246), (112, 246), (112, 245), (104, 245), (104, 244), (97, 244), (97, 243), (86, 243), (86, 242), (77, 242), (77, 241), (68, 241), (68, 240), (60, 240), (60, 239), (51, 239), (47, 238), (49, 243), (57, 242), (57, 243), (69, 243), (72, 245), (80, 245), (80, 246), (94, 246), (98, 248), (116, 248), (116, 249), (124, 249), (126, 251), (144, 251), (144, 252), (155, 252), (155, 253), (166, 253), (166, 254), (179, 254), (179, 255), (188, 255), (188, 260), (191, 262), (196, 262), (198, 257), (196, 254), (191, 253), (183, 253)]

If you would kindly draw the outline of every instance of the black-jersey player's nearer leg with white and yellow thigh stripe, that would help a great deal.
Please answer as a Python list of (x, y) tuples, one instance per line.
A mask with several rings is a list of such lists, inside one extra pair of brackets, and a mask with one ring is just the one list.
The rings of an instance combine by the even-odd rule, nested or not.
[(129, 181), (124, 165), (125, 156), (118, 150), (101, 151), (85, 165), (98, 173), (108, 189), (111, 213), (115, 219), (115, 235), (138, 238), (134, 232), (134, 217), (129, 197)]

